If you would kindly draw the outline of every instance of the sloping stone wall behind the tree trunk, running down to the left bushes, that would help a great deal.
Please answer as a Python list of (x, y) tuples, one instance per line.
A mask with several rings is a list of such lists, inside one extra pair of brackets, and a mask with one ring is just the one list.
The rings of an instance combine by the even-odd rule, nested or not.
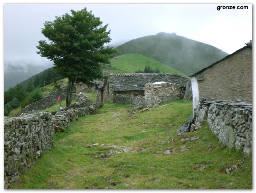
[(27, 105), (26, 107), (21, 109), (21, 111), (17, 113), (16, 116), (20, 116), (23, 112), (26, 113), (33, 110), (43, 110), (45, 108), (51, 107), (53, 104), (57, 102), (59, 96), (62, 98), (62, 100), (66, 98), (67, 87), (68, 86), (62, 86), (59, 92), (57, 90), (54, 90), (49, 94), (48, 97), (42, 98), (41, 100), (36, 101), (35, 103)]

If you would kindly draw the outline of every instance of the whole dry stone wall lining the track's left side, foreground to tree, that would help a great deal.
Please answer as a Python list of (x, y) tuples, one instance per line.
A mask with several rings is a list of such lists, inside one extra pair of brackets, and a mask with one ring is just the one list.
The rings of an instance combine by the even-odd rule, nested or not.
[[(74, 108), (53, 114), (34, 110), (20, 117), (4, 117), (4, 187), (22, 175), (38, 158), (53, 147), (53, 134), (63, 132), (70, 122), (87, 114), (96, 114), (103, 103), (92, 104), (85, 95)], [(86, 106), (87, 105), (87, 106)], [(90, 106), (89, 106), (90, 105)], [(34, 113), (34, 114), (31, 114)]]

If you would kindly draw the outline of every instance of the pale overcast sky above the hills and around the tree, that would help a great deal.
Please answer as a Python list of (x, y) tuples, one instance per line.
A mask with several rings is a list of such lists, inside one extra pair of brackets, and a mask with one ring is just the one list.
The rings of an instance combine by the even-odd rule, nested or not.
[(220, 11), (218, 5), (4, 4), (4, 61), (47, 61), (36, 54), (38, 41), (45, 39), (41, 34), (44, 22), (84, 7), (109, 24), (112, 43), (175, 32), (231, 54), (252, 39), (252, 4), (246, 4), (248, 10)]

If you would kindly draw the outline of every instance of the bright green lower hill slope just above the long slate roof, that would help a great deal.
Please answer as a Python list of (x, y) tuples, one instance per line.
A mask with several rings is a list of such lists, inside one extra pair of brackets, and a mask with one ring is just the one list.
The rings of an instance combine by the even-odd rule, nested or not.
[(178, 70), (175, 70), (166, 64), (155, 61), (140, 54), (122, 54), (112, 58), (110, 61), (111, 67), (103, 66), (103, 70), (107, 70), (108, 72), (112, 73), (125, 73), (144, 70), (145, 66), (150, 66), (152, 69), (158, 68), (160, 73), (164, 72), (186, 76), (184, 73), (179, 72)]

